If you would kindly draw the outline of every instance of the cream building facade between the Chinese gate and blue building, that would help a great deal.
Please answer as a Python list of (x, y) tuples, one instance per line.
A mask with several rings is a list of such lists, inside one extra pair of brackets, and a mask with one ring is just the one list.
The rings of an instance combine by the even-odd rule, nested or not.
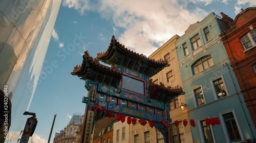
[[(175, 35), (149, 56), (149, 58), (155, 60), (167, 60), (170, 64), (169, 67), (151, 77), (154, 83), (160, 84), (162, 82), (165, 87), (183, 87), (175, 45), (179, 38), (180, 36)], [(177, 100), (170, 103), (170, 118), (173, 122), (169, 130), (169, 142), (193, 142), (189, 123), (187, 123), (186, 127), (183, 126), (182, 121), (187, 120), (189, 122), (189, 120), (187, 108), (185, 107), (182, 110), (180, 108), (181, 103), (186, 104), (184, 95), (179, 96)], [(174, 125), (176, 120), (179, 121), (178, 127)]]

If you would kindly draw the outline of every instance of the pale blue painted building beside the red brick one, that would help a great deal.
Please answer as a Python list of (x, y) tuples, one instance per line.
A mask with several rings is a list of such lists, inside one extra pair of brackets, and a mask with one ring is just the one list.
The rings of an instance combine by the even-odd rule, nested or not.
[[(256, 134), (219, 37), (225, 27), (211, 13), (191, 24), (175, 43), (189, 120), (196, 123), (190, 125), (191, 133), (197, 143), (241, 142)], [(220, 125), (206, 125), (206, 118), (215, 117)]]

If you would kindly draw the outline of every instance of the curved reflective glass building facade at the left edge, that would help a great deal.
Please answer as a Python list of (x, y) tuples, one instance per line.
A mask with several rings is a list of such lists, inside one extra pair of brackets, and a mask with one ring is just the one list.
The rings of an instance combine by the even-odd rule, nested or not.
[[(0, 0), (0, 143), (24, 129), (61, 0)], [(4, 89), (5, 85), (8, 89)], [(5, 91), (8, 91), (8, 109)], [(5, 106), (6, 107), (6, 106)], [(2, 114), (8, 111), (8, 118)], [(8, 122), (8, 139), (4, 133)]]

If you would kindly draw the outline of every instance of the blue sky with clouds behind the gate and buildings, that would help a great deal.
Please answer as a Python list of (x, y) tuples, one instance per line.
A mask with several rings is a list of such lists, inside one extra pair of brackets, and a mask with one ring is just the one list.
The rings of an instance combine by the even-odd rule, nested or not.
[(211, 12), (234, 19), (241, 8), (255, 6), (254, 0), (62, 0), (41, 71), (47, 77), (37, 85), (29, 109), (38, 119), (33, 142), (47, 142), (55, 114), (51, 142), (73, 113), (84, 114), (84, 81), (70, 73), (85, 50), (95, 58), (115, 35), (125, 47), (148, 56)]

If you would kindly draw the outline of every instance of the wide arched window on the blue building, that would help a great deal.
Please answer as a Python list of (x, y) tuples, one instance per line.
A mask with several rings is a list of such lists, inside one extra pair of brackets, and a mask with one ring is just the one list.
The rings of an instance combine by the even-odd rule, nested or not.
[(199, 72), (211, 67), (214, 65), (214, 62), (211, 59), (210, 55), (204, 56), (203, 58), (199, 59), (195, 64), (193, 64), (193, 71), (194, 75), (198, 74)]

